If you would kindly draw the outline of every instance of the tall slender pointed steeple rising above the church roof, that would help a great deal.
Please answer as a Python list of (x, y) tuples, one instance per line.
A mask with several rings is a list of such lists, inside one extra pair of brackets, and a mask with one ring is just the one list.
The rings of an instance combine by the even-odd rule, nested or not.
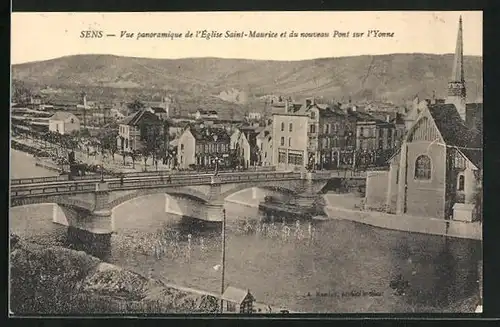
[(465, 121), (465, 77), (464, 77), (464, 53), (463, 53), (463, 38), (462, 38), (462, 16), (458, 20), (458, 35), (455, 48), (455, 56), (453, 58), (453, 71), (451, 79), (448, 82), (448, 98), (446, 103), (454, 104), (457, 108), (460, 117)]

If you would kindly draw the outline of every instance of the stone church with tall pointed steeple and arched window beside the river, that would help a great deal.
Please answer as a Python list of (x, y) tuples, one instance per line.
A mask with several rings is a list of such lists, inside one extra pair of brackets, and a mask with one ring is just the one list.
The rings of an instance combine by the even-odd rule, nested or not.
[[(466, 104), (462, 18), (448, 97), (420, 109), (384, 175), (385, 209), (398, 215), (480, 219), (482, 103)], [(367, 203), (377, 196), (369, 184), (370, 177)]]

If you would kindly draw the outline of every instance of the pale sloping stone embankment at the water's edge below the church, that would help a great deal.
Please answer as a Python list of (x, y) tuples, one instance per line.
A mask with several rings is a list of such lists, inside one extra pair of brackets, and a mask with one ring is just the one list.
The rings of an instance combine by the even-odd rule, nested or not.
[[(440, 235), (456, 238), (482, 240), (482, 225), (479, 222), (461, 222), (438, 218), (394, 215), (378, 211), (362, 211), (356, 207), (355, 199), (345, 195), (328, 194), (325, 199), (325, 214), (331, 219), (343, 219), (380, 228), (414, 232), (429, 235)], [(347, 200), (347, 201), (346, 201)], [(344, 206), (351, 202), (353, 207)]]

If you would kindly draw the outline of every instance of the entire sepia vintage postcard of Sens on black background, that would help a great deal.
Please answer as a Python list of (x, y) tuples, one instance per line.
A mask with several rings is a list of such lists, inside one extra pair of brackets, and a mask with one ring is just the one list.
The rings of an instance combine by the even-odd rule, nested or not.
[(482, 12), (13, 13), (12, 316), (482, 311)]

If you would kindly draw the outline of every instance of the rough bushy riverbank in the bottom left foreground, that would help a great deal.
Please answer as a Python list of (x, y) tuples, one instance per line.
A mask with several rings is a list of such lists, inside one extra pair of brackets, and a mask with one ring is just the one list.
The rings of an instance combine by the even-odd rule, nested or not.
[[(217, 313), (217, 294), (146, 278), (82, 251), (41, 245), (11, 234), (11, 302), (15, 315)], [(268, 306), (255, 309), (267, 313)], [(279, 313), (279, 308), (272, 308)]]

